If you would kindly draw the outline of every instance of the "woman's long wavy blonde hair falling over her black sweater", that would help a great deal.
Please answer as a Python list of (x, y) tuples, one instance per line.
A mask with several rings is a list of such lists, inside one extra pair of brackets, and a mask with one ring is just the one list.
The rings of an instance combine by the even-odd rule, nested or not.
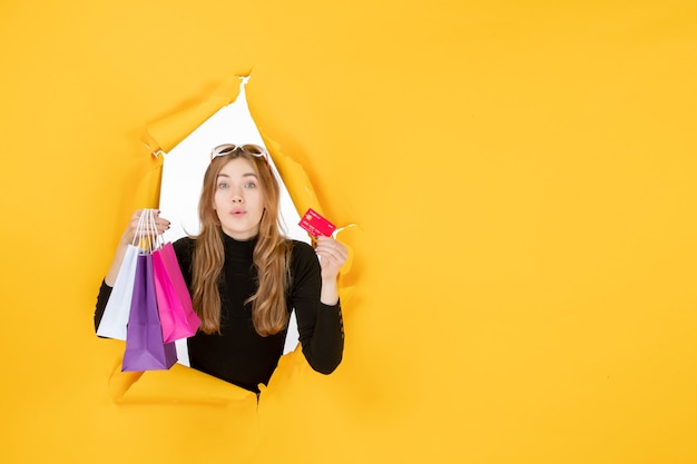
[(228, 146), (225, 155), (216, 156), (204, 175), (198, 203), (200, 234), (196, 239), (192, 261), (192, 302), (200, 318), (200, 329), (206, 334), (220, 333), (220, 294), (218, 284), (225, 263), (223, 228), (213, 207), (217, 178), (230, 160), (244, 158), (254, 167), (264, 194), (264, 214), (254, 248), (254, 266), (258, 287), (246, 303), (252, 303), (254, 328), (262, 336), (277, 334), (288, 324), (285, 292), (289, 282), (288, 266), (292, 241), (278, 229), (281, 189), (268, 166), (264, 149), (256, 145)]

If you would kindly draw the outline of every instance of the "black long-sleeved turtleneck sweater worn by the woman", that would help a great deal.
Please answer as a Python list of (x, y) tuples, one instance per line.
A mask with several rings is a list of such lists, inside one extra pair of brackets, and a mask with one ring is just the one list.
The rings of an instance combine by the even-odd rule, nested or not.
[[(220, 292), (220, 335), (200, 330), (188, 338), (193, 368), (205, 372), (243, 388), (258, 392), (267, 384), (283, 355), (286, 330), (263, 337), (252, 323), (252, 305), (244, 302), (256, 292), (256, 268), (253, 253), (256, 239), (238, 241), (223, 234), (225, 265)], [(181, 238), (174, 248), (187, 285), (192, 285), (192, 256), (195, 239)], [(287, 310), (295, 308), (303, 354), (313, 369), (332, 373), (341, 363), (344, 348), (341, 306), (320, 302), (322, 279), (320, 263), (313, 248), (293, 240), (291, 285), (286, 294)], [(99, 326), (111, 287), (102, 283), (95, 310)]]

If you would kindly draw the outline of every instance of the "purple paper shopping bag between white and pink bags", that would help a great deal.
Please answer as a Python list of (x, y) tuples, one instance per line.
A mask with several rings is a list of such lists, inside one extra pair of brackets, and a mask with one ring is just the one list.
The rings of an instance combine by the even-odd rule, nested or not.
[(177, 362), (174, 343), (164, 343), (157, 314), (153, 255), (138, 255), (134, 297), (126, 330), (121, 371), (168, 369)]

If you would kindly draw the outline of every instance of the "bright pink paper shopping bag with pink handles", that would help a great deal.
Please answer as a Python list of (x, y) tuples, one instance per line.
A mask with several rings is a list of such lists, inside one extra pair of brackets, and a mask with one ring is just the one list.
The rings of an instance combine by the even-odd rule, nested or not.
[(194, 313), (192, 296), (184, 282), (181, 268), (171, 243), (153, 251), (153, 270), (157, 310), (165, 343), (196, 334), (200, 319)]

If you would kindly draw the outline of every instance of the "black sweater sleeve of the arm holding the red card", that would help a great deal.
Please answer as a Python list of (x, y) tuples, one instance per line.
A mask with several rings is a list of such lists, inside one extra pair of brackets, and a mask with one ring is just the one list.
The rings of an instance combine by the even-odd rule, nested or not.
[(331, 374), (342, 361), (344, 327), (341, 303), (320, 302), (322, 276), (314, 249), (295, 241), (292, 260), (291, 304), (295, 308), (303, 354), (313, 369)]

